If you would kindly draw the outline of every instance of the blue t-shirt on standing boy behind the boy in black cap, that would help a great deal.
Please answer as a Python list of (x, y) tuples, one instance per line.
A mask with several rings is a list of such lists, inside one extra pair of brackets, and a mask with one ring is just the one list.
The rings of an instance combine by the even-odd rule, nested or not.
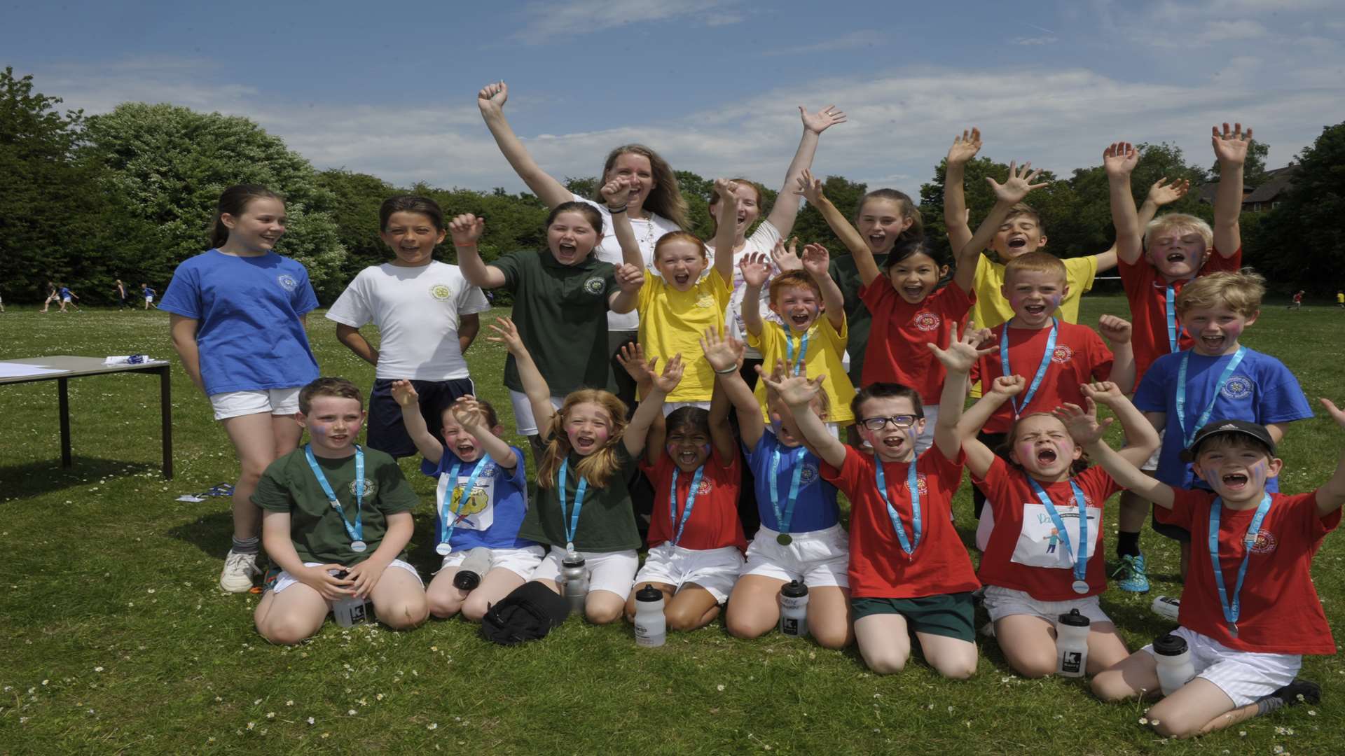
[[(1209, 406), (1210, 394), (1219, 377), (1224, 374), (1233, 355), (1205, 356), (1194, 350), (1165, 354), (1154, 361), (1145, 373), (1135, 391), (1135, 406), (1141, 412), (1162, 412), (1167, 414), (1163, 428), (1163, 445), (1158, 456), (1158, 479), (1169, 486), (1208, 488), (1190, 471), (1190, 464), (1181, 461), (1181, 451), (1186, 448), (1181, 422), (1177, 417), (1177, 373), (1181, 370), (1182, 355), (1190, 354), (1186, 367), (1186, 433), (1194, 434), (1201, 413)], [(1247, 350), (1243, 362), (1228, 377), (1206, 422), (1216, 420), (1245, 420), (1260, 425), (1290, 422), (1313, 416), (1313, 408), (1303, 395), (1298, 379), (1284, 367), (1284, 363)], [(1275, 478), (1266, 482), (1267, 491), (1279, 491)]]

